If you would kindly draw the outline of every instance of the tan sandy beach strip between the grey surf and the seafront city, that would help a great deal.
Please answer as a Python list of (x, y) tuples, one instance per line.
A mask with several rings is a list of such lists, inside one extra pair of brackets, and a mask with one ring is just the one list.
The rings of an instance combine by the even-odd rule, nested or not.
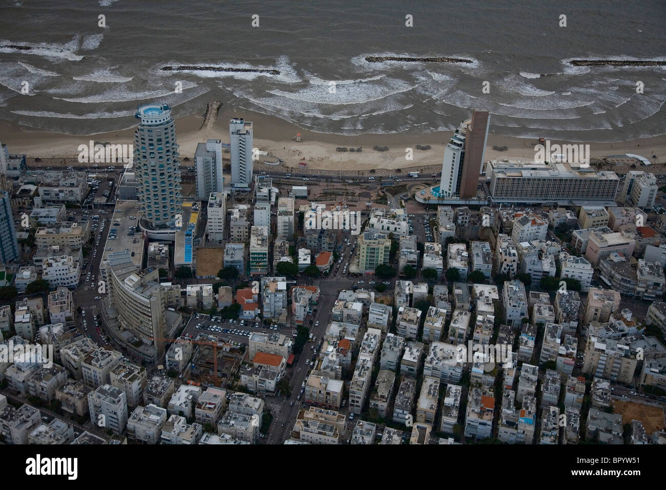
[[(451, 131), (429, 133), (424, 135), (363, 134), (344, 136), (304, 131), (296, 125), (258, 113), (225, 111), (224, 106), (214, 125), (210, 129), (200, 127), (203, 116), (189, 115), (176, 118), (176, 137), (180, 145), (180, 157), (192, 158), (196, 144), (206, 139), (221, 139), (228, 142), (228, 121), (231, 117), (244, 117), (254, 123), (254, 146), (268, 151), (284, 160), (286, 167), (297, 167), (300, 161), (308, 163), (309, 169), (368, 171), (370, 169), (404, 169), (408, 167), (427, 167), (441, 165), (444, 147), (452, 136)], [(129, 122), (129, 121), (128, 121)], [(296, 133), (301, 134), (300, 143), (292, 139)], [(71, 159), (78, 155), (77, 147), (87, 145), (93, 139), (97, 143), (131, 144), (134, 129), (117, 132), (99, 133), (91, 136), (66, 135), (35, 131), (29, 127), (19, 126), (3, 121), (0, 123), (0, 141), (9, 147), (11, 153), (25, 153), (29, 158)], [(548, 138), (547, 134), (543, 137)], [(486, 160), (491, 159), (523, 159), (534, 157), (534, 139), (519, 139), (497, 135), (492, 131), (488, 135)], [(568, 143), (552, 141), (552, 143)], [(571, 143), (587, 143), (576, 141)], [(389, 147), (388, 151), (375, 151), (374, 146)], [(430, 145), (430, 150), (418, 150), (416, 145)], [(608, 155), (636, 153), (655, 163), (666, 163), (666, 135), (649, 139), (635, 139), (618, 143), (589, 143), (590, 156), (603, 158)], [(496, 151), (493, 146), (508, 147), (506, 151)], [(338, 152), (336, 147), (362, 147), (361, 153)], [(408, 149), (412, 149), (412, 159), (406, 159)], [(656, 161), (652, 159), (657, 155)]]

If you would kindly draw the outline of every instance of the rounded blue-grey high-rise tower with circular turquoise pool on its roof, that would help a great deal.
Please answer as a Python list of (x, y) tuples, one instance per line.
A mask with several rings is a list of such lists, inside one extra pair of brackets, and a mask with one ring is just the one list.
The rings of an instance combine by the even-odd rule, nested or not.
[(166, 104), (142, 105), (136, 117), (141, 120), (134, 133), (137, 199), (145, 223), (159, 229), (182, 214), (175, 123)]

